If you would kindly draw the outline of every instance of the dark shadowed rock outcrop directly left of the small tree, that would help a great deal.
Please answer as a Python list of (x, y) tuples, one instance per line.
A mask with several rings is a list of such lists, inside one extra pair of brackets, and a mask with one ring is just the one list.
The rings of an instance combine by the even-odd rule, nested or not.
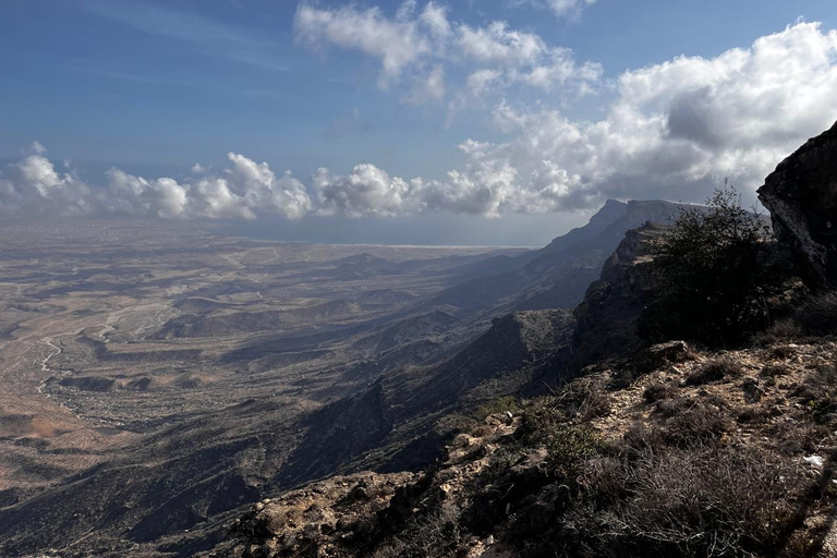
[(653, 222), (628, 231), (605, 263), (602, 278), (587, 289), (573, 313), (577, 326), (573, 357), (567, 365), (569, 376), (592, 363), (642, 348), (636, 325), (650, 289), (647, 247), (664, 231), (665, 226)]

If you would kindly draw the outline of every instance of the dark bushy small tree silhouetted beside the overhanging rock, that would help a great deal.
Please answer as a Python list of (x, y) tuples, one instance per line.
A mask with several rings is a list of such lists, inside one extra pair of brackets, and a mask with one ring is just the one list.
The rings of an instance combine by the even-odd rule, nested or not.
[(654, 300), (640, 319), (640, 335), (720, 345), (765, 326), (766, 301), (788, 275), (773, 257), (771, 240), (767, 222), (742, 208), (726, 183), (706, 207), (681, 209), (651, 248)]

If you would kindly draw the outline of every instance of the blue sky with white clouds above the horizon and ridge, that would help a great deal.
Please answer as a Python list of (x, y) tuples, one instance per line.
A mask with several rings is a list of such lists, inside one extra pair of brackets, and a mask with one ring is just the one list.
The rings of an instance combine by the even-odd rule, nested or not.
[(833, 0), (4, 0), (0, 218), (543, 245), (747, 203), (837, 120)]

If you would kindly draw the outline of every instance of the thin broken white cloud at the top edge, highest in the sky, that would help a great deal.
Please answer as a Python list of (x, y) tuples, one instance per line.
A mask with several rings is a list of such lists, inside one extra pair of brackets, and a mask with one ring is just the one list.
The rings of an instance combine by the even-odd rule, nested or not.
[[(560, 85), (573, 95), (586, 93), (602, 75), (598, 64), (578, 64), (571, 50), (549, 46), (538, 35), (505, 22), (484, 27), (451, 22), (447, 9), (434, 1), (420, 10), (415, 0), (409, 0), (392, 17), (378, 8), (302, 3), (294, 34), (315, 50), (333, 46), (362, 52), (380, 64), (381, 88), (404, 84), (411, 89), (405, 98), (412, 102), (438, 102), (449, 96), (451, 110), (464, 107), (469, 98), (498, 94), (515, 84), (546, 90)], [(446, 73), (446, 66), (456, 72)], [(489, 75), (493, 78), (486, 80)]]

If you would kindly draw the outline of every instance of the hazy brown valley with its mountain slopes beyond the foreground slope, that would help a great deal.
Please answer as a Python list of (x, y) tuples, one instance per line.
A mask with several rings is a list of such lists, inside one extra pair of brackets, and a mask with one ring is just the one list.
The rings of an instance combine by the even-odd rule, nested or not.
[(264, 494), (416, 471), (554, 383), (624, 231), (537, 251), (308, 245), (157, 221), (0, 228), (0, 555), (189, 556)]

